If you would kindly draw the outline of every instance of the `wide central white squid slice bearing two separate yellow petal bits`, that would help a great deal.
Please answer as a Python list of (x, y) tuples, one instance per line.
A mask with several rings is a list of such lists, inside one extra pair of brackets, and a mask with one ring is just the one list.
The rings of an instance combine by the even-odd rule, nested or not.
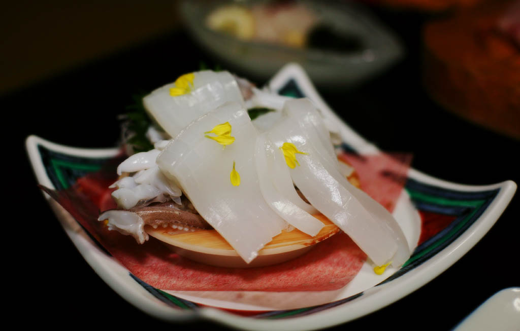
[[(229, 122), (235, 142), (223, 147), (204, 132)], [(195, 209), (250, 263), (287, 223), (262, 197), (254, 166), (256, 130), (240, 103), (226, 103), (181, 131), (157, 158), (159, 168), (176, 178)], [(236, 163), (240, 185), (230, 173)]]

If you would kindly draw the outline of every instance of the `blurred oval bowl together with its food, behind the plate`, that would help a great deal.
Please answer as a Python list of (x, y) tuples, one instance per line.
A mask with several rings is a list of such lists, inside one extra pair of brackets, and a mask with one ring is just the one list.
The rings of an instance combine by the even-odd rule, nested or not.
[(403, 54), (392, 32), (359, 4), (184, 1), (180, 13), (219, 62), (259, 80), (297, 62), (319, 87), (345, 88)]

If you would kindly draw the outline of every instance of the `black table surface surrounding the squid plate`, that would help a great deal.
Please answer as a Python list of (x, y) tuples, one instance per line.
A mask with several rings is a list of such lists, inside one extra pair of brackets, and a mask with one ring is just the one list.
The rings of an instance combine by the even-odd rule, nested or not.
[[(518, 183), (518, 141), (444, 111), (422, 87), (421, 24), (429, 17), (397, 11), (378, 15), (403, 40), (406, 57), (355, 88), (320, 90), (324, 99), (381, 149), (412, 153), (412, 166), (424, 173), (463, 184)], [(197, 70), (201, 61), (218, 64), (184, 31), (172, 31), (2, 98), (9, 116), (4, 123), (14, 125), (6, 128), (5, 139), (16, 156), (15, 175), (8, 175), (8, 184), (18, 189), (16, 206), (22, 215), (14, 220), (23, 222), (15, 227), (9, 222), (4, 284), (15, 287), (14, 312), (24, 316), (19, 323), (225, 329), (212, 322), (171, 325), (116, 295), (87, 265), (48, 208), (23, 145), (25, 137), (36, 134), (70, 146), (115, 146), (120, 134), (116, 117), (133, 103), (132, 95)], [(348, 113), (341, 112), (347, 106)], [(487, 235), (434, 280), (386, 308), (333, 329), (451, 329), (492, 294), (519, 286), (519, 202), (516, 195)]]

